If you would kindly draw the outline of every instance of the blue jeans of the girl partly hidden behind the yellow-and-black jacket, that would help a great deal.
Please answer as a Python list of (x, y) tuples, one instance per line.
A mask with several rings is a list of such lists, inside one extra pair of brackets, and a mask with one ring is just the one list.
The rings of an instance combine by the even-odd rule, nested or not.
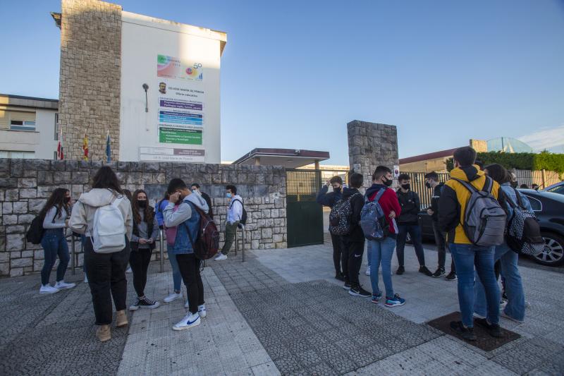
[[(505, 279), (505, 292), (508, 298), (504, 310), (505, 315), (523, 321), (525, 320), (525, 293), (517, 267), (518, 259), (519, 255), (513, 252), (506, 243), (496, 246), (494, 262), (497, 260), (501, 262), (501, 276)], [(474, 312), (478, 315), (486, 315), (486, 295), (479, 277), (476, 277), (474, 286)]]

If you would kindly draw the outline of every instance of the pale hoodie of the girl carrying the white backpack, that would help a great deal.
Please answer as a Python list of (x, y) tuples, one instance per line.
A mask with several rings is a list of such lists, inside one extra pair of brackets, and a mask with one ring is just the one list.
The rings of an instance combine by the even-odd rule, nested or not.
[[(92, 230), (94, 227), (94, 213), (99, 207), (111, 204), (118, 197), (118, 193), (114, 190), (105, 188), (94, 188), (90, 192), (82, 193), (78, 202), (73, 205), (73, 213), (68, 226), (78, 234), (85, 234), (86, 231)], [(133, 233), (133, 213), (131, 212), (131, 202), (123, 196), (119, 206), (119, 210), (125, 221), (125, 235), (128, 239)]]

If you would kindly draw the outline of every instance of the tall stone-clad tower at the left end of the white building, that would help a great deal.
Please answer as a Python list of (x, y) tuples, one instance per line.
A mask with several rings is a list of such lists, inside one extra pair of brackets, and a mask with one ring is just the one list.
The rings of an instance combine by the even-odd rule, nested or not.
[(98, 0), (62, 0), (59, 126), (65, 157), (103, 159), (106, 132), (119, 155), (121, 6)]

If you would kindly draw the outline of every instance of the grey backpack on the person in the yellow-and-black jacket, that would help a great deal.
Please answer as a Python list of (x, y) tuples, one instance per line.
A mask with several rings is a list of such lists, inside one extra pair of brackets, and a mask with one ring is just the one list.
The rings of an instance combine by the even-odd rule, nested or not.
[(482, 190), (478, 190), (466, 181), (457, 178), (454, 180), (470, 191), (470, 199), (464, 213), (464, 224), (462, 224), (468, 239), (472, 244), (480, 247), (491, 247), (503, 243), (507, 214), (491, 194), (494, 180), (486, 176), (486, 183)]

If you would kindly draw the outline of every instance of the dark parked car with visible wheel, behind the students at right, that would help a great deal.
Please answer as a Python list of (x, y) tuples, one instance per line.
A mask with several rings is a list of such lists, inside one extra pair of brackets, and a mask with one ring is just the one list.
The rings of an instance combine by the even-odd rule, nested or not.
[[(546, 190), (519, 189), (529, 198), (534, 214), (539, 219), (544, 251), (534, 260), (541, 265), (564, 264), (564, 194), (548, 192)], [(427, 212), (419, 213), (419, 225), (422, 236), (426, 240), (434, 240), (431, 217)]]

